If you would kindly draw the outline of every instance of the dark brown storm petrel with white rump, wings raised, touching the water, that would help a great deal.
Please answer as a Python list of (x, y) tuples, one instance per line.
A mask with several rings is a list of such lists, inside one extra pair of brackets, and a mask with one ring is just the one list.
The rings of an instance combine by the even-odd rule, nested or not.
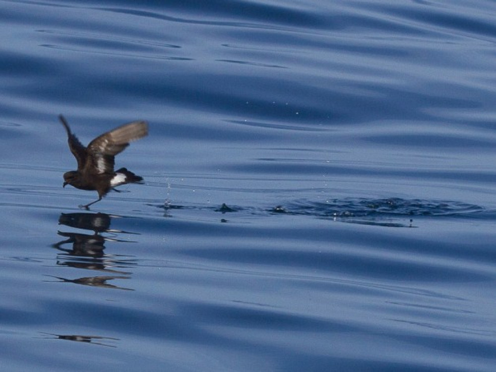
[(87, 147), (84, 147), (70, 131), (67, 121), (59, 115), (62, 125), (67, 131), (67, 142), (70, 152), (77, 160), (77, 171), (65, 172), (65, 185), (71, 185), (81, 190), (96, 190), (98, 199), (80, 208), (86, 208), (102, 200), (107, 192), (117, 186), (130, 183), (140, 183), (143, 178), (136, 176), (125, 168), (114, 171), (114, 157), (122, 152), (129, 142), (148, 134), (148, 124), (143, 121), (132, 122), (119, 126), (107, 133), (96, 137)]

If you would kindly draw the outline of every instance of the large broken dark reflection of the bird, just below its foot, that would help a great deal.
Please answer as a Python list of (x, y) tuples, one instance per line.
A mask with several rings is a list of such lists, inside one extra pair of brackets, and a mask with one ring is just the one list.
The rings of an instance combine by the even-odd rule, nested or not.
[(115, 276), (95, 276), (82, 277), (79, 279), (67, 279), (59, 276), (48, 275), (59, 279), (65, 283), (75, 283), (93, 287), (125, 289), (108, 284), (112, 279), (129, 279), (130, 272), (122, 271), (122, 268), (129, 268), (135, 265), (134, 259), (129, 256), (118, 254), (108, 254), (105, 252), (107, 242), (132, 242), (130, 240), (120, 240), (120, 234), (136, 234), (122, 230), (110, 228), (112, 218), (106, 213), (62, 213), (59, 217), (59, 225), (70, 228), (89, 230), (91, 234), (81, 232), (58, 231), (57, 234), (67, 238), (52, 245), (60, 250), (57, 256), (57, 264), (60, 266), (72, 267), (85, 270), (98, 270), (106, 273), (116, 274)]

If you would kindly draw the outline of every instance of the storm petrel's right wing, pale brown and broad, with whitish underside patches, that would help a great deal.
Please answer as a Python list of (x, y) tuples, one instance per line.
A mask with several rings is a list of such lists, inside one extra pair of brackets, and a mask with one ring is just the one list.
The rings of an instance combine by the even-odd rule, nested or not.
[(121, 125), (92, 140), (87, 148), (89, 163), (92, 163), (97, 173), (114, 172), (114, 156), (122, 152), (130, 141), (148, 134), (148, 124), (143, 121)]

